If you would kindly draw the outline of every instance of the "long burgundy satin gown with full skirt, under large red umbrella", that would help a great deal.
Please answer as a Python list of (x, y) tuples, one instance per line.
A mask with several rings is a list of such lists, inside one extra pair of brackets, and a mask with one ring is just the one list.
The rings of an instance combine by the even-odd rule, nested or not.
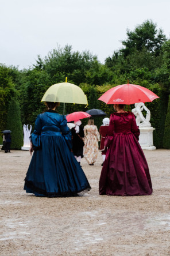
[(140, 130), (132, 112), (111, 114), (106, 152), (99, 180), (101, 195), (150, 195), (152, 182), (138, 143)]

